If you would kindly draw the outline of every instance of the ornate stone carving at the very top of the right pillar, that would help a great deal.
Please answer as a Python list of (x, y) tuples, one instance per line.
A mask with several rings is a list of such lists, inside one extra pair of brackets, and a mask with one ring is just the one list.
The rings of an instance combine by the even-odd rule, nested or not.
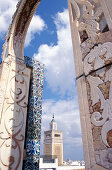
[[(94, 42), (97, 34), (100, 32), (99, 20), (103, 13), (102, 8), (98, 7), (97, 10), (94, 11), (95, 5), (89, 0), (71, 0), (70, 2), (74, 7), (73, 13), (76, 13), (76, 20), (79, 21), (79, 31), (81, 32), (86, 30), (88, 37)], [(98, 2), (95, 1), (95, 3)], [(81, 6), (81, 9), (78, 5)]]

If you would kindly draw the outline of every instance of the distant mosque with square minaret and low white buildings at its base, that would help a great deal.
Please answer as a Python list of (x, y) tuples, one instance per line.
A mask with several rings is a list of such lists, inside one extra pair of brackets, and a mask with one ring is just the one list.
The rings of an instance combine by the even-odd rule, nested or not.
[(44, 131), (44, 151), (40, 157), (39, 170), (84, 170), (80, 161), (67, 163), (63, 161), (63, 134), (58, 130), (53, 118), (49, 123), (49, 130)]

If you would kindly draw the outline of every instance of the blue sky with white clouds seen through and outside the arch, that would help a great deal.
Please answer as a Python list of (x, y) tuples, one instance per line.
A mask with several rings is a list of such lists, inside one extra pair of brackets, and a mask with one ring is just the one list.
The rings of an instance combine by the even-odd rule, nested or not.
[[(17, 0), (0, 1), (0, 53)], [(83, 160), (73, 49), (67, 0), (42, 0), (31, 21), (24, 55), (45, 64), (43, 131), (52, 115), (63, 131), (64, 160)]]

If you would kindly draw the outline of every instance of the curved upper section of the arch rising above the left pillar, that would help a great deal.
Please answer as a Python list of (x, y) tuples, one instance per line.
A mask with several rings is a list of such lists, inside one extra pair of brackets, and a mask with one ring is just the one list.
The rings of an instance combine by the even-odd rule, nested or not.
[(16, 12), (13, 15), (12, 23), (6, 35), (2, 59), (8, 55), (24, 60), (23, 49), (26, 33), (37, 6), (41, 0), (20, 0)]

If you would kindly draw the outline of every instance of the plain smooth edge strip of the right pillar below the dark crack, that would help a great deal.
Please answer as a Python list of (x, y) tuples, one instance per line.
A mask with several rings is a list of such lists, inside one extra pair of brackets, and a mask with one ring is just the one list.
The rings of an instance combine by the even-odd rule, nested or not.
[(91, 166), (94, 167), (95, 157), (94, 157), (92, 130), (91, 130), (89, 106), (87, 100), (85, 77), (81, 77), (80, 79), (77, 80), (77, 89), (78, 89), (84, 159), (86, 162), (86, 169), (90, 169)]

